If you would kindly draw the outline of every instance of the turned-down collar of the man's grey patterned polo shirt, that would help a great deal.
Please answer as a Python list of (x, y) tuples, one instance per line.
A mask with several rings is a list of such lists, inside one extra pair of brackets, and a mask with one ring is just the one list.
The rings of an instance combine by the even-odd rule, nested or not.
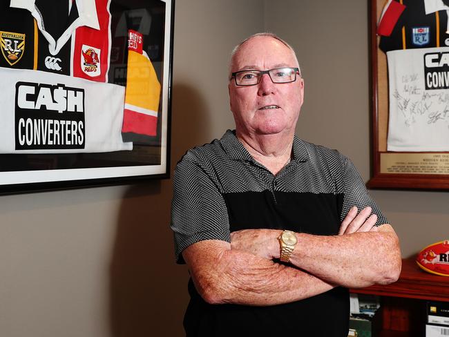
[[(227, 130), (220, 142), (232, 160), (254, 162), (254, 158), (251, 157), (245, 146), (237, 139), (235, 130)], [(309, 160), (309, 153), (307, 148), (305, 148), (303, 140), (294, 135), (292, 162), (307, 162), (307, 160)]]

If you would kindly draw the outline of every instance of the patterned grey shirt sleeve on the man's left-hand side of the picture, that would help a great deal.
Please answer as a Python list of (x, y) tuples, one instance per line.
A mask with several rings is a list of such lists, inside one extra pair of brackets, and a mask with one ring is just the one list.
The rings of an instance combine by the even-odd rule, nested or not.
[(185, 156), (175, 168), (171, 229), (180, 264), (184, 263), (182, 251), (195, 242), (231, 242), (227, 206), (209, 171)]

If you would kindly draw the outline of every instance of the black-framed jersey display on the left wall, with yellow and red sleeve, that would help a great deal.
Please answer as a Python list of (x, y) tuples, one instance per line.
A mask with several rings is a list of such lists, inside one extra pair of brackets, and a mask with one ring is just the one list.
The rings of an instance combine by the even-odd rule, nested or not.
[(0, 193), (169, 176), (173, 10), (0, 1)]

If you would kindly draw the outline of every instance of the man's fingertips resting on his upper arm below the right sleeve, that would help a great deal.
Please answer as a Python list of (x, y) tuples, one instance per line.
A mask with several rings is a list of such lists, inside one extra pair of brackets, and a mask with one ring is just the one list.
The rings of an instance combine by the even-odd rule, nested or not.
[[(371, 207), (366, 207), (357, 214), (357, 207), (354, 206), (347, 212), (345, 219), (341, 222), (338, 235), (352, 234), (356, 232), (378, 231), (375, 226), (377, 215), (371, 214)], [(370, 215), (371, 214), (371, 215)]]

